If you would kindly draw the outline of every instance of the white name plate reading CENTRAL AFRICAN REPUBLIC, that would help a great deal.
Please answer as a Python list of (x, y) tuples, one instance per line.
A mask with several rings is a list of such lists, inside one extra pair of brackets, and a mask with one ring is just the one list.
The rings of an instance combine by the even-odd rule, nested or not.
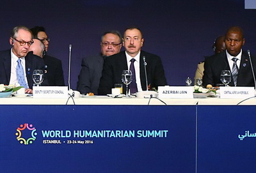
[(249, 98), (255, 96), (254, 87), (220, 87), (220, 98)]

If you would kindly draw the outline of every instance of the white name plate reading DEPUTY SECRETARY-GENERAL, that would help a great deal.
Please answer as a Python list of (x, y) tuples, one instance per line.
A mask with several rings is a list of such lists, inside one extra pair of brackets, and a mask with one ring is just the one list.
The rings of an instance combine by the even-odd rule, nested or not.
[(33, 86), (33, 98), (68, 98), (68, 87)]

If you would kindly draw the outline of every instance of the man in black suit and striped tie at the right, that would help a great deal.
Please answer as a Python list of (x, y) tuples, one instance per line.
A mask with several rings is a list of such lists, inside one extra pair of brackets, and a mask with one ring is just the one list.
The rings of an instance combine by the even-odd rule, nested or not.
[[(218, 86), (221, 84), (222, 70), (230, 70), (232, 80), (229, 86), (254, 86), (252, 67), (248, 53), (242, 50), (245, 43), (241, 27), (230, 27), (225, 35), (226, 50), (208, 57), (204, 64), (203, 85)], [(252, 58), (253, 67), (256, 66)], [(255, 72), (254, 72), (255, 73)]]

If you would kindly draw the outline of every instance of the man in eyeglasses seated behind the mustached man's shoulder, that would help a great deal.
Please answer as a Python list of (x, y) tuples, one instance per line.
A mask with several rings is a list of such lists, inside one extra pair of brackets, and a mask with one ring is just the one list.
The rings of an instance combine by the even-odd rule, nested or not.
[(98, 94), (104, 59), (117, 54), (122, 47), (122, 36), (118, 31), (106, 31), (101, 37), (101, 54), (84, 57), (78, 76), (77, 90), (82, 94)]

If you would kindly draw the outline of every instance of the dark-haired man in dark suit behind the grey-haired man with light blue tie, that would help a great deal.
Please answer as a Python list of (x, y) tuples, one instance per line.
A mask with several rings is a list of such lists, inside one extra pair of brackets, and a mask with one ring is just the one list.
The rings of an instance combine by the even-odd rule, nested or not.
[(34, 38), (38, 38), (45, 45), (43, 59), (45, 63), (45, 69), (47, 71), (49, 86), (65, 86), (61, 60), (47, 54), (50, 39), (45, 33), (45, 28), (42, 26), (35, 26), (31, 28), (31, 31)]

